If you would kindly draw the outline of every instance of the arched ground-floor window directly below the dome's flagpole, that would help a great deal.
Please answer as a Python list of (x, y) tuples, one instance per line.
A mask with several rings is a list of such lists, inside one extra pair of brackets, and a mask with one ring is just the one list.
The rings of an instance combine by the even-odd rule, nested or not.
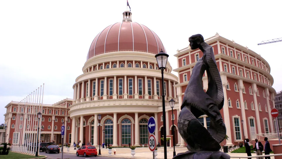
[(131, 143), (131, 122), (129, 119), (124, 119), (121, 122), (121, 144), (128, 145)]

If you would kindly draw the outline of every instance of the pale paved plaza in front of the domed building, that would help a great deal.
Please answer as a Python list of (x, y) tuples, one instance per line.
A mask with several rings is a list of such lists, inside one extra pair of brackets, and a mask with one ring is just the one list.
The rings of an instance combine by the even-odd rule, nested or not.
[[(101, 146), (102, 147), (102, 146)], [(99, 147), (96, 147), (97, 150), (99, 151)], [(113, 148), (116, 150), (116, 155), (114, 155), (113, 151), (112, 151), (112, 156), (109, 156), (108, 153), (108, 149), (106, 148), (101, 148), (101, 156), (105, 156), (105, 157), (113, 157), (113, 158), (137, 158), (137, 159), (152, 159), (153, 158), (153, 153), (149, 150), (149, 148), (136, 148), (135, 149), (135, 155), (134, 157), (132, 157), (132, 155), (130, 154), (131, 151), (129, 148)], [(175, 152), (177, 153), (183, 153), (186, 152), (187, 148), (186, 147), (175, 147)], [(66, 152), (66, 149), (64, 149), (64, 153), (68, 153)], [(69, 153), (76, 153), (76, 150), (73, 150), (73, 148), (70, 149)], [(164, 148), (158, 148), (157, 151), (157, 158), (161, 159), (164, 158)], [(247, 156), (246, 153), (227, 153), (230, 156)], [(252, 153), (252, 156), (255, 156), (255, 153)], [(173, 157), (173, 148), (167, 148), (167, 158), (172, 158)], [(238, 159), (238, 158), (236, 158)], [(256, 158), (253, 158), (256, 159)], [(274, 159), (274, 157), (271, 157), (271, 159)]]

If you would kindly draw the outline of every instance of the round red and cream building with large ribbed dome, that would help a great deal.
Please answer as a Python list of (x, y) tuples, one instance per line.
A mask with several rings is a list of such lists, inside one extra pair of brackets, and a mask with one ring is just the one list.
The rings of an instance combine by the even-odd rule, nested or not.
[(164, 70), (167, 130), (162, 128), (162, 80), (155, 54), (165, 52), (164, 45), (151, 29), (132, 22), (130, 11), (122, 15), (122, 22), (106, 27), (94, 38), (83, 74), (73, 85), (73, 104), (68, 112), (72, 120), (71, 143), (98, 145), (100, 136), (101, 143), (113, 146), (147, 144), (149, 117), (155, 117), (157, 122), (157, 141), (161, 143), (163, 131), (167, 135), (174, 131), (174, 140), (180, 143), (178, 107), (174, 108), (172, 126), (174, 116), (168, 102), (177, 100), (173, 85), (178, 78), (171, 73), (169, 62)]

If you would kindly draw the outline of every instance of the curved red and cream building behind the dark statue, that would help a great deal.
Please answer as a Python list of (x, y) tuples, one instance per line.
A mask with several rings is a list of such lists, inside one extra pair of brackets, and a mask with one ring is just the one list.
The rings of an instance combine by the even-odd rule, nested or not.
[[(259, 54), (234, 41), (216, 34), (205, 42), (214, 50), (216, 64), (221, 75), (224, 107), (220, 110), (229, 139), (226, 144), (237, 144), (254, 134), (274, 131), (270, 110), (274, 107), (275, 90), (269, 64)], [(203, 53), (186, 47), (177, 50), (177, 97), (182, 103), (192, 70)], [(207, 74), (203, 76), (203, 89), (208, 89)], [(179, 107), (181, 104), (179, 105)], [(199, 118), (209, 125), (208, 117)], [(243, 120), (243, 124), (241, 123)], [(244, 135), (243, 135), (244, 134)]]

